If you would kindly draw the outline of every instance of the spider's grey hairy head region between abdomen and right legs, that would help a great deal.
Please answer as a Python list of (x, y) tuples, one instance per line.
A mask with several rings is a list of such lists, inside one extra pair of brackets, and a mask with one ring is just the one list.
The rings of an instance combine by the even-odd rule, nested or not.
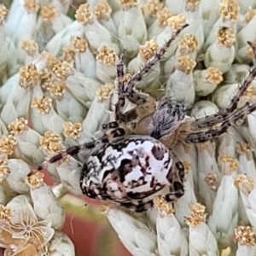
[(185, 106), (183, 104), (164, 102), (154, 113), (154, 130), (150, 136), (160, 139), (160, 137), (175, 131), (185, 118), (185, 115)]

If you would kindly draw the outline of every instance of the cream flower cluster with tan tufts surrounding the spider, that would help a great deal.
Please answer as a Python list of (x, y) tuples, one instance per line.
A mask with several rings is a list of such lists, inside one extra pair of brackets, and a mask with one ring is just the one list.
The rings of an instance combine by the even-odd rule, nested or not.
[[(49, 164), (55, 187), (35, 171), (45, 158), (102, 136), (117, 101), (116, 64), (125, 50), (125, 81), (189, 24), (163, 61), (136, 84), (182, 102), (190, 116), (225, 108), (255, 56), (254, 0), (13, 0), (0, 4), (0, 246), (5, 255), (74, 255), (60, 230), (56, 198), (82, 195), (90, 152)], [(240, 105), (255, 101), (255, 83)], [(132, 104), (125, 110), (133, 108)], [(238, 107), (241, 107), (241, 106)], [(133, 255), (256, 253), (256, 115), (214, 142), (177, 145), (185, 195), (162, 197), (143, 213), (104, 207)], [(63, 252), (61, 247), (65, 247)]]

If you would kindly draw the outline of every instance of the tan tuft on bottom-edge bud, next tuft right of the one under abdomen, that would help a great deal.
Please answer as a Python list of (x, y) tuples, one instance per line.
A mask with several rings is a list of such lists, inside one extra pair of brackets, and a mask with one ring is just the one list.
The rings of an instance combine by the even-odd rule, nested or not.
[(185, 222), (193, 227), (198, 227), (205, 221), (206, 207), (200, 203), (196, 203), (189, 207), (190, 217), (185, 217)]

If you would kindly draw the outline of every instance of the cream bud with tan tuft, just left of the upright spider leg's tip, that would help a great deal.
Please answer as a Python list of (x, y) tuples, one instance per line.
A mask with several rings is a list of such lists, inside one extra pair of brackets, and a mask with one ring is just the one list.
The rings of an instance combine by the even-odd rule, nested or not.
[(118, 55), (106, 46), (98, 49), (96, 55), (96, 76), (102, 83), (110, 83), (116, 77), (116, 64), (119, 60)]

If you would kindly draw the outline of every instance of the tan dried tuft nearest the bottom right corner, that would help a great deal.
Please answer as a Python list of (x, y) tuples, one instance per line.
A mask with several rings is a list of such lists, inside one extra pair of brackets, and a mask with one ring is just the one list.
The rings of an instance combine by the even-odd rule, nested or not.
[(238, 226), (235, 229), (235, 239), (239, 242), (242, 246), (254, 246), (255, 239), (254, 239), (254, 232), (253, 228), (250, 226)]

